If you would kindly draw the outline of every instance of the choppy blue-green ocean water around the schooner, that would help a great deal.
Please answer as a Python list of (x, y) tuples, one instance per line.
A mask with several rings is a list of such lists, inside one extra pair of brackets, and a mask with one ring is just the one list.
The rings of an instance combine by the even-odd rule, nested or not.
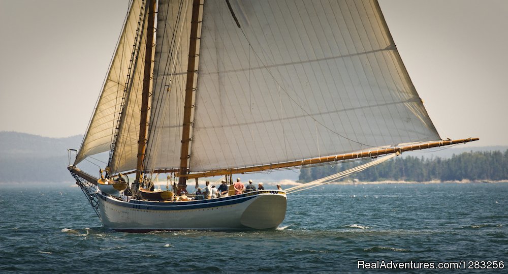
[[(508, 184), (330, 185), (288, 195), (277, 230), (144, 234), (104, 229), (69, 183), (0, 184), (2, 273), (436, 271), (359, 261), (506, 273)], [(498, 268), (481, 269), (489, 265)]]

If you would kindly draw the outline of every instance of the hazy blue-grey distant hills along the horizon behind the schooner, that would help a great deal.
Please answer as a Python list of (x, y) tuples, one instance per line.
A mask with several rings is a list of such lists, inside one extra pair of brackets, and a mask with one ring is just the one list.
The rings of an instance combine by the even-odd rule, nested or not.
[[(66, 138), (49, 138), (38, 135), (19, 132), (0, 132), (0, 182), (62, 182), (73, 181), (74, 179), (67, 170), (69, 157), (68, 148), (78, 149), (83, 139), (82, 135)], [(448, 149), (424, 151), (411, 151), (405, 153), (404, 157), (441, 157), (451, 158), (470, 151), (504, 151), (508, 146), (488, 147), (451, 147)], [(107, 161), (108, 153), (99, 154), (94, 158)], [(74, 161), (72, 159), (71, 161)], [(94, 163), (104, 167), (104, 164), (92, 160)], [(81, 169), (98, 174), (99, 167), (83, 161), (78, 165)], [(242, 181), (253, 179), (255, 181), (279, 181), (282, 179), (297, 180), (298, 169), (271, 171), (258, 174), (240, 175)]]

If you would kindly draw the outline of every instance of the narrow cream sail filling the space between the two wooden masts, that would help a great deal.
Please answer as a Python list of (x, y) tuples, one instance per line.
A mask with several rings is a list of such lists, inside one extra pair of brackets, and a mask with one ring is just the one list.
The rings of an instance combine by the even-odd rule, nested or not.
[(192, 1), (158, 1), (145, 169), (178, 168)]

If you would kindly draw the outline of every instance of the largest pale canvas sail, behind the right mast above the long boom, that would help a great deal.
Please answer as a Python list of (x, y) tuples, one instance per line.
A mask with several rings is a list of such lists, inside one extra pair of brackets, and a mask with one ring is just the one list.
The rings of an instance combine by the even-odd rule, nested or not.
[(440, 139), (376, 1), (207, 0), (200, 44), (191, 171)]

